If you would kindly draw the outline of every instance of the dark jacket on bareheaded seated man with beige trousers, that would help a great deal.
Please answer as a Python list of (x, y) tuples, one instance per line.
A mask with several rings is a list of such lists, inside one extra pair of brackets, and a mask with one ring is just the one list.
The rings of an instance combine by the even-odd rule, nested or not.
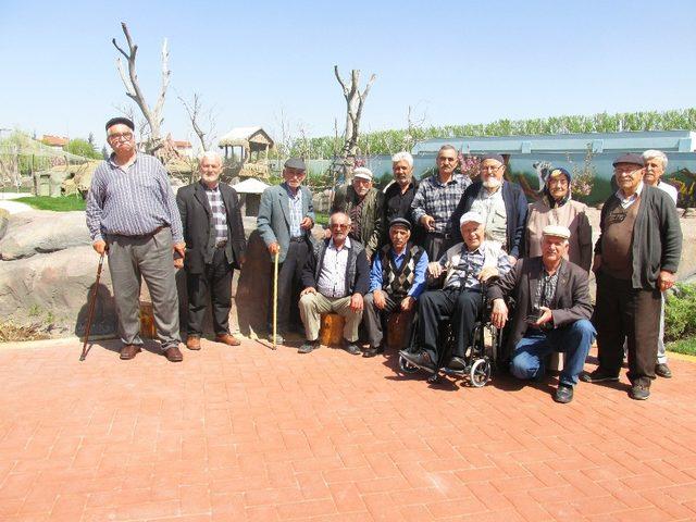
[[(324, 264), (324, 252), (328, 247), (328, 241), (324, 239), (314, 244), (314, 248), (307, 257), (307, 262), (302, 269), (302, 285), (304, 288), (310, 286), (316, 288), (319, 274)], [(364, 296), (370, 289), (370, 263), (365, 248), (360, 241), (350, 239), (350, 248), (348, 249), (348, 262), (346, 263), (346, 290), (348, 295), (360, 294)]]

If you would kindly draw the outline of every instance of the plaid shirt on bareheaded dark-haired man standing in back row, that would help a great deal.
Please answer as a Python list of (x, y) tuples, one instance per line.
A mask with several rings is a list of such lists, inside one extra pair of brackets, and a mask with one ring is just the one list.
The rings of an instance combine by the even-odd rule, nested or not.
[(435, 219), (435, 232), (449, 233), (449, 219), (469, 185), (471, 179), (463, 174), (455, 174), (446, 185), (437, 173), (426, 177), (419, 185), (411, 203), (413, 222), (419, 223), (424, 215), (431, 215)]

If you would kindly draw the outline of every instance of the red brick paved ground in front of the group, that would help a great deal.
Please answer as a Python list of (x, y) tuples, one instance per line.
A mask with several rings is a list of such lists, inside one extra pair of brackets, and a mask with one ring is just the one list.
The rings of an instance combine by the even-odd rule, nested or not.
[(428, 386), (326, 348), (32, 346), (0, 348), (3, 522), (696, 520), (692, 362), (561, 406), (554, 378)]

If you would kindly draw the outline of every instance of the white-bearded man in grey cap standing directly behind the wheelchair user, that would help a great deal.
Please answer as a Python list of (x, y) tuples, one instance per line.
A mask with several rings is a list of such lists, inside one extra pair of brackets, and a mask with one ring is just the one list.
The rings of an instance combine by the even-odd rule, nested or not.
[(467, 188), (452, 213), (452, 241), (461, 241), (461, 235), (455, 226), (461, 215), (470, 211), (478, 212), (484, 219), (486, 239), (502, 244), (514, 262), (524, 253), (526, 197), (522, 187), (505, 179), (502, 156), (484, 156), (480, 169), (481, 178)]

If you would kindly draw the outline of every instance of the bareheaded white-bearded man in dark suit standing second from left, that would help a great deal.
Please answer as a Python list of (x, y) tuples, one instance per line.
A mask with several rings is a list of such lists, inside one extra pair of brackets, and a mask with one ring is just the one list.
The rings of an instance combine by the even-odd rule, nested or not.
[(186, 240), (186, 347), (189, 350), (200, 350), (209, 298), (215, 343), (239, 345), (229, 334), (232, 276), (235, 268), (241, 269), (247, 248), (237, 191), (220, 183), (222, 157), (217, 152), (204, 152), (199, 172), (199, 182), (179, 188), (176, 194)]

